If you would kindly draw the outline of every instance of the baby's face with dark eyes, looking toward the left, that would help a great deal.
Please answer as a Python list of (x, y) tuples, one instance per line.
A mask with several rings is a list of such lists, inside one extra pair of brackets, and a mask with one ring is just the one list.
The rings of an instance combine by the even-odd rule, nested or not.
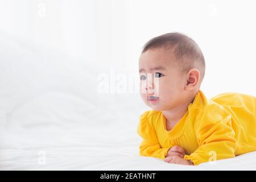
[(186, 101), (185, 74), (174, 64), (175, 56), (162, 48), (148, 49), (139, 58), (141, 97), (154, 110), (170, 110)]

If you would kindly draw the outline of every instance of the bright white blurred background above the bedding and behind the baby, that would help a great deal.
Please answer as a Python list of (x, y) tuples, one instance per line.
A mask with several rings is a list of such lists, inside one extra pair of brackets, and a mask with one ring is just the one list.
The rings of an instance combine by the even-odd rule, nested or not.
[(171, 31), (191, 36), (207, 69), (201, 89), (255, 95), (254, 1), (31, 0), (0, 1), (0, 29), (23, 40), (108, 65), (138, 71), (147, 40)]

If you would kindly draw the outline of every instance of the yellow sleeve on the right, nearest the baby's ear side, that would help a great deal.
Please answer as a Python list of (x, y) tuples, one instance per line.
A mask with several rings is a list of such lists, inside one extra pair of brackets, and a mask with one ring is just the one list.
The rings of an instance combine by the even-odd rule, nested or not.
[(235, 156), (237, 140), (234, 138), (231, 115), (218, 105), (210, 107), (210, 110), (204, 111), (203, 117), (195, 123), (199, 148), (184, 156), (195, 165)]

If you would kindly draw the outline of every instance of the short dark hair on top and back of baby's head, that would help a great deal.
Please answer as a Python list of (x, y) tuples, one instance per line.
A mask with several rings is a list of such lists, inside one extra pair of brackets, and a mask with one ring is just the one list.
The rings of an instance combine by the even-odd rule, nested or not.
[(187, 72), (191, 68), (197, 68), (201, 75), (200, 82), (203, 81), (205, 74), (204, 55), (193, 39), (179, 32), (163, 34), (150, 39), (143, 46), (142, 53), (154, 48), (164, 48), (173, 51), (181, 71)]

